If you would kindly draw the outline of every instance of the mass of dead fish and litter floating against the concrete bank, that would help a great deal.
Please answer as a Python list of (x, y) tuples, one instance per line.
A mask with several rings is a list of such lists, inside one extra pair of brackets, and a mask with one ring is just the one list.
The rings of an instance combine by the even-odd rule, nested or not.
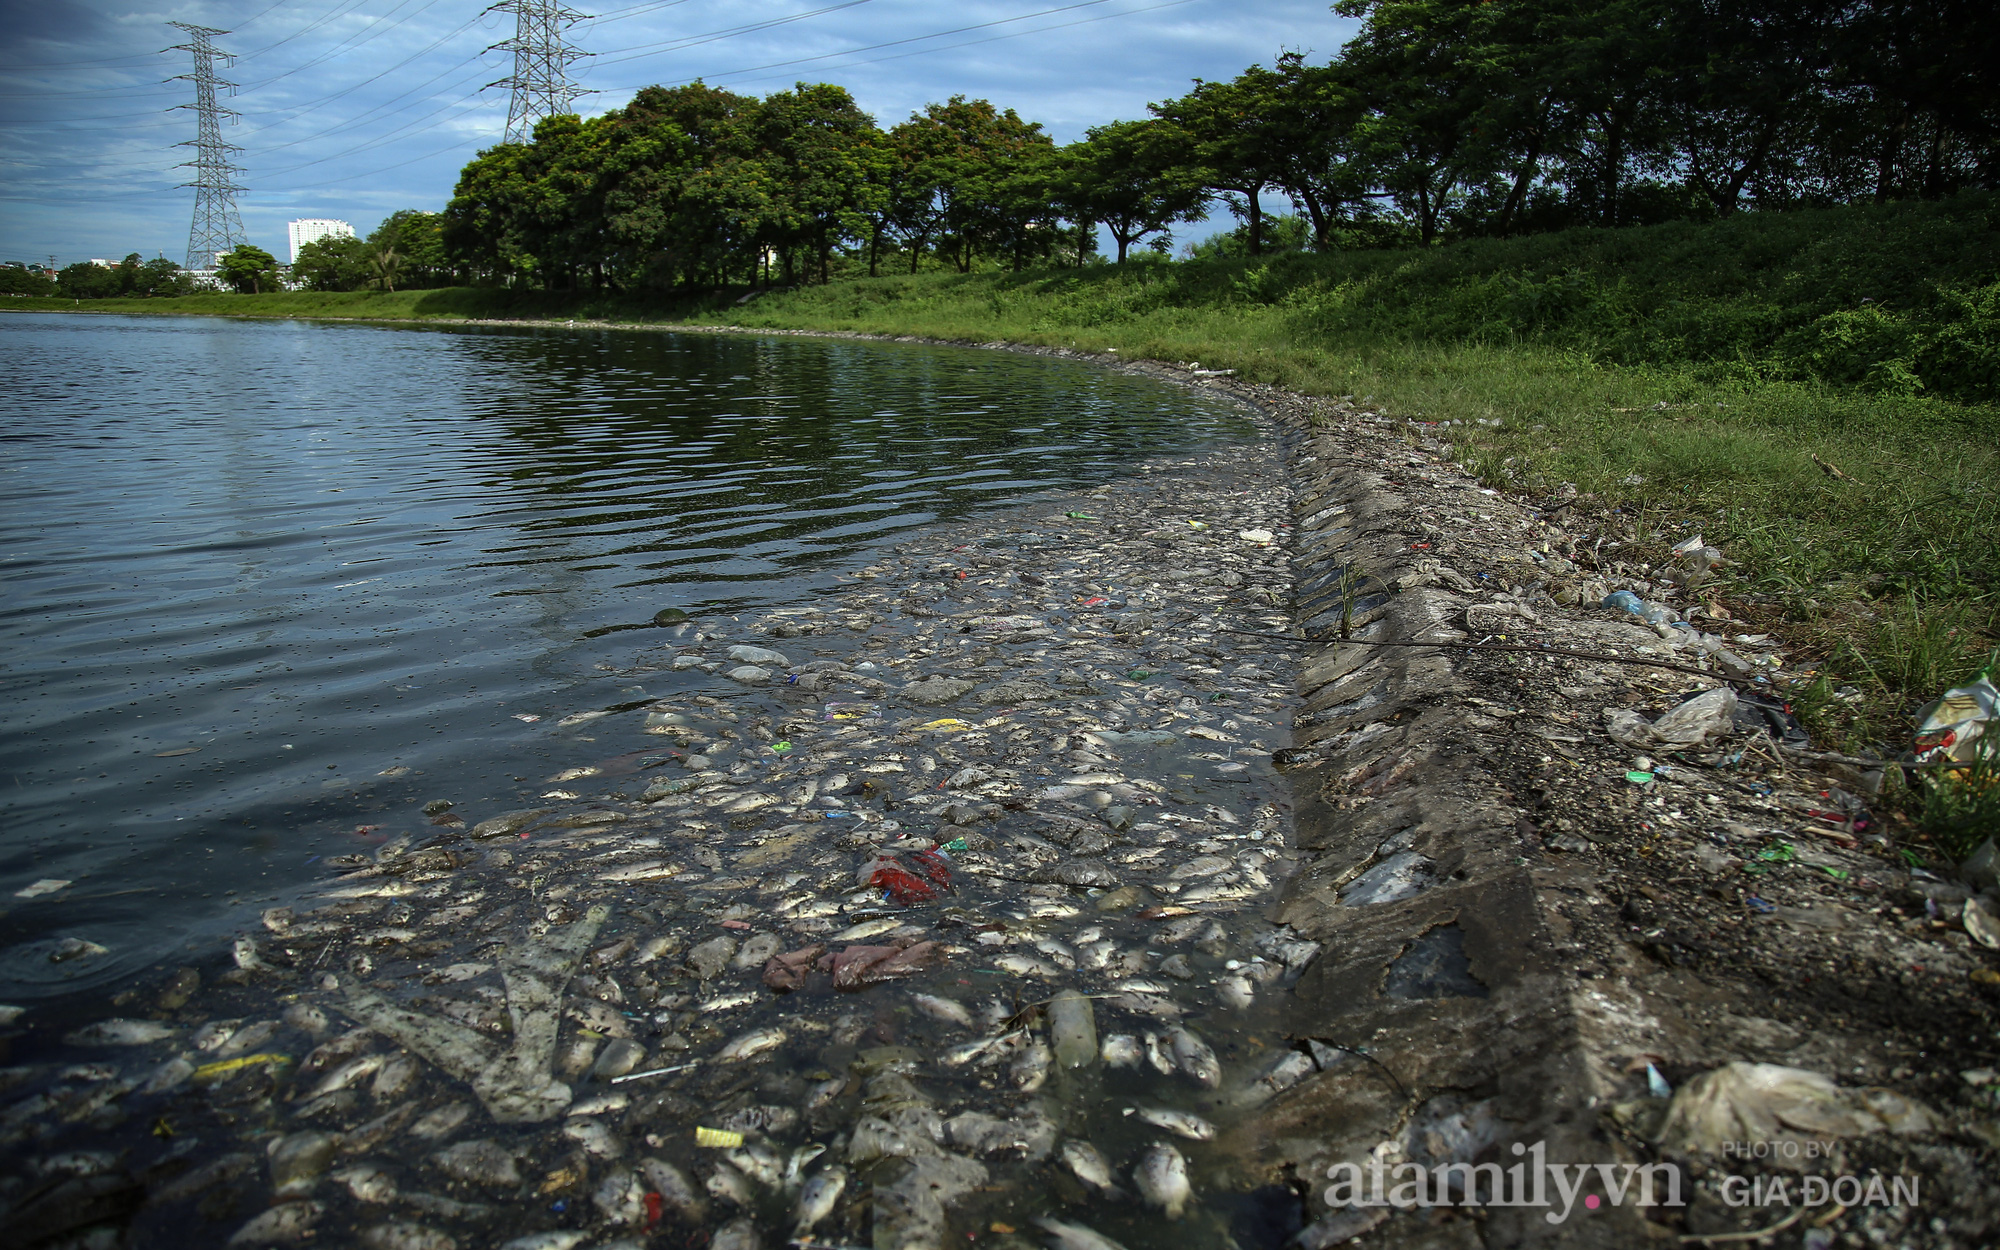
[(32, 1030), (12, 1238), (1222, 1244), (1232, 1128), (1314, 1070), (1274, 1000), (1316, 948), (1254, 912), (1274, 444), (662, 614), (628, 672), (672, 692), (550, 716), (546, 806), (430, 804), (234, 966)]

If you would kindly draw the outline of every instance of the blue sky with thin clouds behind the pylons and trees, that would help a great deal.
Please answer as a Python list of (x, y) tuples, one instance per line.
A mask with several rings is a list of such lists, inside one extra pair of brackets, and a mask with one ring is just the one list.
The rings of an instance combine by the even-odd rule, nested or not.
[[(438, 210), (496, 142), (514, 34), (486, 0), (214, 0), (136, 8), (0, 0), (0, 260), (60, 264), (186, 250), (194, 192), (190, 68), (168, 22), (214, 26), (236, 54), (238, 196), (250, 242), (286, 258), (284, 224), (366, 232)], [(574, 76), (604, 112), (640, 86), (704, 78), (746, 94), (838, 82), (884, 126), (930, 100), (984, 96), (1058, 140), (1144, 116), (1194, 78), (1232, 78), (1286, 48), (1330, 56), (1354, 22), (1328, 0), (604, 0), (570, 30)], [(1202, 230), (1196, 230), (1200, 234)]]

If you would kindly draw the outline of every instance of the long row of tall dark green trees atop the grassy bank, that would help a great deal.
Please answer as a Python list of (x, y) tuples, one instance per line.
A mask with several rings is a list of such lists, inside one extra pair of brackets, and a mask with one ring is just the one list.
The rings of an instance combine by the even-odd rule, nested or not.
[(482, 152), (440, 270), (550, 288), (826, 280), (836, 264), (1166, 252), (1216, 204), (1266, 248), (1432, 244), (2000, 182), (2000, 8), (1962, 0), (1340, 0), (1360, 34), (1054, 144), (954, 96), (646, 88)]

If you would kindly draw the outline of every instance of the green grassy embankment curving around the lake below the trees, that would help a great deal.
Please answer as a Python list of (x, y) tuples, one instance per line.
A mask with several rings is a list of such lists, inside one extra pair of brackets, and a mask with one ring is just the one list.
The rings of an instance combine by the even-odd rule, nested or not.
[[(1482, 480), (1536, 492), (1574, 482), (1622, 506), (1612, 524), (1634, 532), (1636, 558), (1662, 558), (1688, 532), (1682, 522), (1700, 526), (1744, 574), (1724, 604), (1758, 626), (1782, 622), (1820, 664), (1798, 704), (1840, 744), (1904, 744), (1910, 712), (2000, 642), (1992, 196), (1428, 252), (858, 278), (748, 306), (734, 294), (666, 304), (450, 290), (98, 308), (684, 320), (1200, 360), (1470, 422), (1450, 434)], [(1970, 822), (2000, 822), (2000, 802), (1984, 806), (1960, 818), (1932, 810), (1930, 824), (1958, 826), (1946, 834), (1958, 842)]]

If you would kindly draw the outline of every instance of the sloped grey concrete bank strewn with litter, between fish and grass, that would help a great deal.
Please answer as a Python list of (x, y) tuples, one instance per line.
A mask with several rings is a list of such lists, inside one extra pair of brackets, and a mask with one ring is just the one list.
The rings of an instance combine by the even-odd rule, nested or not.
[[(1324, 950), (1288, 1032), (1348, 1058), (1260, 1126), (1302, 1244), (1990, 1244), (1994, 952), (1868, 822), (1880, 772), (1760, 708), (1776, 642), (1702, 676), (1596, 606), (1672, 538), (1480, 490), (1446, 430), (1252, 398), (1310, 430), (1274, 918)], [(1716, 688), (1720, 726), (1646, 736)]]

